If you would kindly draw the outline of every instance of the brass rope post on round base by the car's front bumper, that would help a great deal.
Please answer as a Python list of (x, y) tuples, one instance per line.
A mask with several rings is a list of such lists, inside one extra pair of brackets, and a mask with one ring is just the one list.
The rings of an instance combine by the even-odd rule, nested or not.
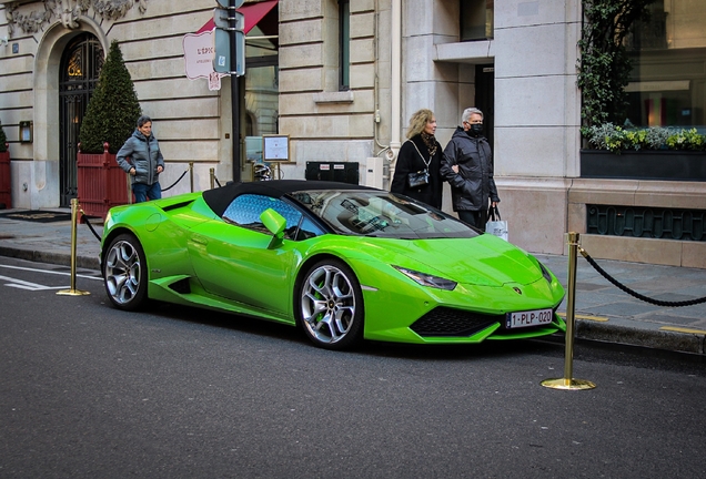
[(566, 297), (566, 345), (564, 353), (564, 377), (559, 379), (545, 379), (542, 386), (553, 389), (593, 389), (595, 384), (574, 379), (574, 310), (576, 299), (576, 251), (578, 249), (578, 233), (568, 234), (568, 295)]

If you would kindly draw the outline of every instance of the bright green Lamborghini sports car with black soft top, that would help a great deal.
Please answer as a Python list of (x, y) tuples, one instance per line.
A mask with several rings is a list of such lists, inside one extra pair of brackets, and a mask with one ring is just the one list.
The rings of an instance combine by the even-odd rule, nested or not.
[(537, 259), (406, 196), (344, 183), (233, 183), (113, 207), (111, 303), (150, 299), (301, 327), (316, 345), (517, 339), (565, 329)]

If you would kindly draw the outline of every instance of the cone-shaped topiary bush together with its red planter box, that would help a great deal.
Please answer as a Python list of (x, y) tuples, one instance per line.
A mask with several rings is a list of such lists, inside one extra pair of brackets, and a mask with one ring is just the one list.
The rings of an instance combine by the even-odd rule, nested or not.
[(78, 198), (88, 216), (132, 202), (129, 181), (115, 153), (130, 137), (142, 114), (119, 43), (113, 40), (101, 68), (79, 133)]

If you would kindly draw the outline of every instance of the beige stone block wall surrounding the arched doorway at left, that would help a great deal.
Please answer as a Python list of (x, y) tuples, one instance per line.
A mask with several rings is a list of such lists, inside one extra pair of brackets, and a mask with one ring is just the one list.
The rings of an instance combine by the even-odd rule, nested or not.
[[(44, 3), (0, 6), (0, 38), (8, 38), (0, 47), (0, 120), (9, 139), (18, 137), (19, 121), (31, 120), (34, 126), (33, 143), (10, 145), (14, 206), (59, 205), (59, 65), (63, 49), (80, 32), (94, 34), (104, 51), (112, 40), (120, 42), (142, 110), (152, 116), (168, 161), (162, 184), (173, 183), (194, 162), (196, 187), (208, 187), (209, 167), (223, 154), (220, 92), (209, 91), (205, 79), (186, 79), (182, 39), (212, 17), (212, 2), (141, 0), (110, 17), (90, 7), (73, 22), (44, 13), (43, 20), (28, 23), (47, 12)], [(172, 194), (184, 191), (188, 181)]]

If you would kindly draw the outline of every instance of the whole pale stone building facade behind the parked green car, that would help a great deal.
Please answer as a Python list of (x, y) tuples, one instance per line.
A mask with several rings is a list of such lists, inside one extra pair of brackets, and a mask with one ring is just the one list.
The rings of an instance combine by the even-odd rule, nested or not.
[[(699, 3), (656, 1), (658, 31), (653, 23), (632, 39), (634, 124), (703, 129)], [(163, 186), (190, 164), (195, 190), (210, 187), (211, 170), (220, 183), (246, 181), (253, 164), (268, 160), (263, 139), (274, 135), (286, 139), (288, 161), (275, 171), (282, 177), (346, 164), (357, 166), (350, 170), (357, 182), (389, 187), (413, 112), (435, 112), (445, 145), (463, 110), (477, 106), (486, 113), (513, 243), (561, 254), (565, 233), (575, 231), (595, 257), (706, 267), (703, 241), (588, 231), (595, 205), (704, 211), (706, 183), (581, 176), (581, 0), (246, 1), (244, 77), (188, 74), (194, 51), (186, 39), (211, 34), (214, 7), (0, 0), (0, 121), (10, 139), (13, 206), (64, 206), (75, 196), (77, 129), (100, 55), (117, 40), (142, 110), (154, 120), (168, 162)], [(189, 188), (181, 181), (165, 196)], [(448, 198), (446, 191), (446, 211)]]

